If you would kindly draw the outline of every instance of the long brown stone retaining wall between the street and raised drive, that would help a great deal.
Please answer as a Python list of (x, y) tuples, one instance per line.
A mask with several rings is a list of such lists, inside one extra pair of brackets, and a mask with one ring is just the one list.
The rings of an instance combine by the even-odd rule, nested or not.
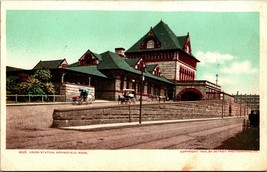
[[(224, 117), (229, 116), (228, 106), (224, 106)], [(250, 112), (250, 111), (248, 111)], [(240, 106), (232, 106), (232, 116), (245, 115)], [(221, 101), (168, 102), (144, 104), (142, 121), (212, 118), (222, 116)], [(55, 109), (52, 127), (67, 127), (107, 123), (137, 122), (139, 104), (107, 107), (80, 107), (75, 109)]]

